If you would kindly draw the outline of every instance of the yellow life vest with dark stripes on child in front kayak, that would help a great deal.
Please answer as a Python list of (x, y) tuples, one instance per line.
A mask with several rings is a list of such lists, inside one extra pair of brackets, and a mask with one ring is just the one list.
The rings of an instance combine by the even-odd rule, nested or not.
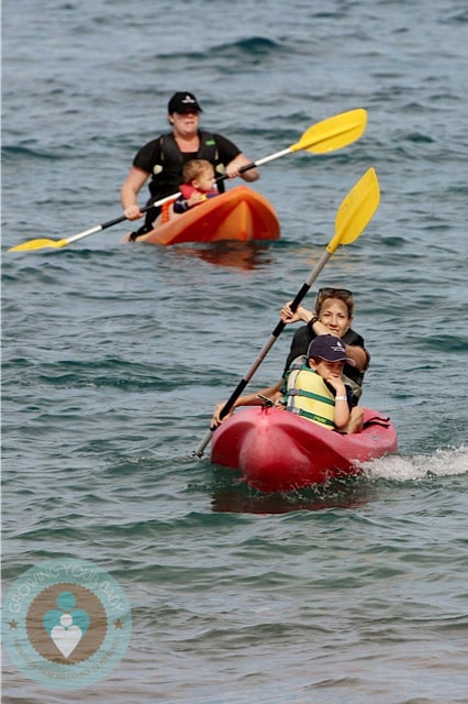
[(328, 430), (335, 427), (335, 397), (320, 374), (307, 363), (291, 365), (285, 402), (288, 410)]

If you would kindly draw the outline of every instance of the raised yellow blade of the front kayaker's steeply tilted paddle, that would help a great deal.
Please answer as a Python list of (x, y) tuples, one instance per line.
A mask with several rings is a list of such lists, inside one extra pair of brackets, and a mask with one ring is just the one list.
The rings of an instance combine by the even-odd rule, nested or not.
[(379, 182), (369, 168), (342, 201), (335, 218), (335, 235), (326, 250), (331, 254), (339, 244), (350, 244), (365, 230), (380, 201)]

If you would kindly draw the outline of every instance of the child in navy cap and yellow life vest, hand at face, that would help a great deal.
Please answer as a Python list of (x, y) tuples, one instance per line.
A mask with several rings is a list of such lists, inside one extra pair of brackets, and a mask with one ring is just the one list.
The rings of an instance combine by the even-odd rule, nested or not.
[(328, 430), (359, 431), (352, 418), (352, 389), (343, 381), (345, 362), (355, 366), (339, 338), (320, 334), (312, 340), (307, 356), (297, 358), (290, 366), (285, 395), (287, 410)]

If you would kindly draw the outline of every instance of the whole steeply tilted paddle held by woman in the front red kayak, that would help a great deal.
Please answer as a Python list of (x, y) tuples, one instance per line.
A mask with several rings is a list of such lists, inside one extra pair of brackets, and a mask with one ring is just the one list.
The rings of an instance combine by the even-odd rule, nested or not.
[[(304, 284), (302, 284), (302, 287), (291, 302), (290, 308), (292, 311), (297, 310), (299, 304), (304, 298), (313, 282), (316, 279), (320, 272), (323, 270), (332, 254), (337, 250), (339, 244), (350, 244), (361, 234), (371, 217), (376, 212), (379, 200), (380, 191), (377, 175), (374, 168), (369, 168), (357, 182), (354, 188), (348, 193), (348, 195), (339, 206), (335, 218), (335, 234), (326, 245), (325, 252), (321, 256), (315, 268), (311, 272), (309, 278), (304, 282)], [(245, 377), (238, 383), (236, 389), (233, 392), (229, 400), (225, 403), (220, 414), (221, 418), (224, 418), (233, 408), (235, 402), (241, 396), (242, 392), (247, 386), (257, 369), (260, 366), (261, 362), (281, 334), (285, 327), (286, 323), (280, 320), (272, 331), (268, 342), (258, 354), (254, 364), (252, 365)], [(194, 450), (194, 455), (199, 458), (203, 455), (204, 448), (210, 442), (211, 436), (215, 428), (210, 428), (203, 440)]]

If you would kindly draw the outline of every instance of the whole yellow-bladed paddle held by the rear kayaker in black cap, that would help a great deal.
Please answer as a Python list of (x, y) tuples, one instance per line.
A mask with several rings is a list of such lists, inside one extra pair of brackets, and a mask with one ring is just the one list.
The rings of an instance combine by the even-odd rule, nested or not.
[[(255, 168), (257, 166), (261, 166), (263, 164), (267, 164), (268, 162), (272, 162), (280, 156), (286, 156), (286, 154), (291, 154), (292, 152), (312, 152), (313, 154), (326, 154), (328, 152), (335, 152), (336, 150), (341, 150), (348, 144), (352, 144), (356, 140), (358, 140), (366, 129), (367, 123), (367, 113), (363, 108), (358, 108), (357, 110), (349, 110), (348, 112), (342, 112), (339, 114), (335, 114), (332, 118), (327, 118), (326, 120), (322, 120), (322, 122), (317, 122), (310, 127), (302, 134), (299, 142), (296, 144), (291, 144), (288, 148), (282, 150), (281, 152), (277, 152), (276, 154), (271, 154), (270, 156), (265, 156), (264, 158), (258, 160), (258, 162), (252, 162), (250, 164), (246, 164), (241, 168), (241, 173), (247, 172), (250, 168)], [(221, 176), (216, 180), (224, 180), (227, 176)], [(161, 200), (157, 200), (145, 208), (141, 208), (142, 212), (145, 210), (149, 210), (149, 208), (157, 208), (168, 200), (172, 200), (177, 198), (179, 194), (172, 194), (171, 196), (167, 196)], [(114, 220), (109, 220), (108, 222), (103, 222), (102, 224), (98, 224), (94, 228), (89, 230), (85, 230), (83, 232), (79, 232), (70, 238), (66, 238), (63, 240), (48, 240), (46, 238), (40, 238), (36, 240), (29, 240), (27, 242), (23, 242), (22, 244), (18, 244), (16, 246), (12, 246), (9, 249), (9, 252), (27, 252), (32, 250), (42, 250), (45, 248), (55, 248), (59, 249), (66, 246), (67, 244), (71, 244), (71, 242), (77, 242), (77, 240), (81, 240), (82, 238), (87, 238), (91, 234), (96, 234), (97, 232), (101, 232), (107, 228), (111, 228), (119, 222), (123, 222), (126, 220), (125, 216), (121, 216), (120, 218), (115, 218)]]

